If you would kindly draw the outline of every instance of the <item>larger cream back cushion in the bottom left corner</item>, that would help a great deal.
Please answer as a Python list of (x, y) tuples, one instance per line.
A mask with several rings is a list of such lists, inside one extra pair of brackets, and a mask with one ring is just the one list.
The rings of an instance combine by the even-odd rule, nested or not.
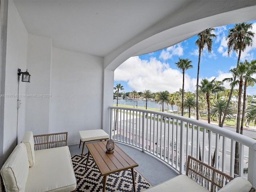
[(18, 144), (1, 168), (6, 191), (24, 192), (28, 178), (28, 154), (24, 143)]

